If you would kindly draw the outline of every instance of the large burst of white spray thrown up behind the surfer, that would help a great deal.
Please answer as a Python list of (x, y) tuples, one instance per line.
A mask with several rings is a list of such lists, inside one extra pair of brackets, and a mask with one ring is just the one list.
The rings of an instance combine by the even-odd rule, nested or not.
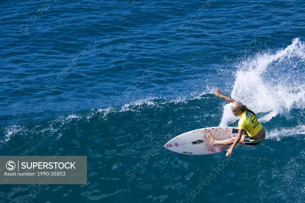
[[(261, 122), (278, 114), (290, 119), (290, 110), (305, 107), (305, 43), (296, 38), (292, 44), (275, 54), (258, 53), (239, 62), (231, 97), (241, 101), (256, 114), (263, 113)], [(228, 126), (239, 117), (224, 106), (220, 126)]]

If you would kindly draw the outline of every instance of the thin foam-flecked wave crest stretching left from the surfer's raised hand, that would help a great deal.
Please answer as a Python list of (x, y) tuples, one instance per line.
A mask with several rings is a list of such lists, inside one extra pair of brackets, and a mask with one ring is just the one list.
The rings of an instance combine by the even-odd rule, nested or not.
[[(122, 105), (121, 107), (109, 106), (107, 108), (98, 108), (98, 109), (89, 109), (84, 110), (78, 113), (69, 113), (66, 115), (58, 115), (56, 118), (43, 118), (40, 120), (35, 120), (30, 116), (27, 119), (22, 121), (15, 121), (14, 124), (11, 124), (6, 127), (2, 127), (0, 132), (0, 143), (8, 142), (15, 135), (18, 136), (33, 136), (33, 135), (54, 135), (57, 134), (58, 138), (61, 136), (61, 133), (58, 133), (59, 130), (66, 128), (65, 126), (69, 123), (81, 124), (82, 122), (90, 122), (91, 119), (95, 119), (99, 122), (106, 122), (109, 119), (109, 116), (117, 116), (119, 113), (130, 113), (138, 112), (140, 113), (143, 109), (154, 109), (162, 110), (167, 108), (170, 104), (178, 105), (185, 104), (193, 100), (204, 99), (206, 93), (192, 93), (189, 96), (178, 97), (173, 99), (167, 98), (146, 98), (133, 101), (127, 104)], [(65, 113), (62, 113), (65, 114)], [(17, 115), (18, 117), (18, 115)], [(26, 117), (26, 116), (25, 116)], [(16, 124), (18, 123), (18, 124)], [(1, 134), (4, 134), (1, 136)]]

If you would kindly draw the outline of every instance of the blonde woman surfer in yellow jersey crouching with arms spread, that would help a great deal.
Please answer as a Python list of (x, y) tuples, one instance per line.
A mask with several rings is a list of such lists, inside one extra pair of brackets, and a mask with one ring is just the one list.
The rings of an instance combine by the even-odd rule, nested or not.
[(231, 111), (234, 116), (240, 116), (238, 122), (238, 135), (226, 140), (215, 140), (213, 135), (208, 134), (208, 139), (212, 145), (232, 145), (230, 149), (227, 149), (226, 156), (231, 156), (235, 146), (239, 144), (243, 145), (257, 145), (266, 137), (266, 131), (264, 127), (257, 120), (257, 117), (253, 111), (251, 111), (242, 102), (235, 101), (234, 99), (221, 94), (218, 88), (214, 88), (214, 94), (217, 97), (223, 98), (232, 103)]

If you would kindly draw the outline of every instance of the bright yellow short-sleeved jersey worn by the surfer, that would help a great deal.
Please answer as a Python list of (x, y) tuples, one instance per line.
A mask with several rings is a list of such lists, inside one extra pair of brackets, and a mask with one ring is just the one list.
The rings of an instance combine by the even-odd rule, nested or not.
[[(249, 109), (249, 108), (248, 108)], [(244, 111), (240, 114), (237, 129), (244, 129), (247, 131), (249, 137), (257, 135), (257, 133), (263, 128), (257, 117), (250, 111)]]

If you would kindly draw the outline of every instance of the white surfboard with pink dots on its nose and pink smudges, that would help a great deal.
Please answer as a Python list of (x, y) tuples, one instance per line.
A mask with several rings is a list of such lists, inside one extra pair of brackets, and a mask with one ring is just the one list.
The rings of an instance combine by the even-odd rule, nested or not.
[(214, 154), (229, 149), (231, 146), (212, 146), (207, 135), (212, 133), (214, 139), (224, 140), (237, 136), (236, 127), (206, 127), (185, 132), (168, 141), (164, 147), (173, 152), (188, 155)]

